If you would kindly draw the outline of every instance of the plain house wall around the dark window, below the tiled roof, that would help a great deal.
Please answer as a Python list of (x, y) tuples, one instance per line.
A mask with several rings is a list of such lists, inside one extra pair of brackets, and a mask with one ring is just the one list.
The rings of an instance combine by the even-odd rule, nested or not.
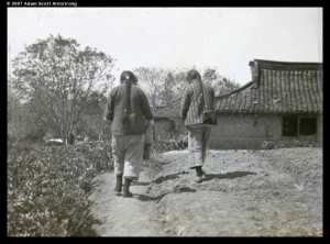
[[(317, 117), (320, 121), (320, 117)], [(266, 142), (274, 145), (309, 145), (319, 141), (322, 126), (318, 122), (317, 134), (309, 136), (283, 136), (282, 115), (218, 115), (209, 147), (215, 149), (257, 149)]]

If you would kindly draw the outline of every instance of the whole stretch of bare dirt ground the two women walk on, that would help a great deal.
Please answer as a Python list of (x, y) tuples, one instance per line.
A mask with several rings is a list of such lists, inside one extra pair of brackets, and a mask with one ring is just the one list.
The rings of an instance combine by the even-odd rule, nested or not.
[(113, 195), (113, 174), (91, 199), (101, 236), (322, 236), (322, 149), (210, 151), (206, 179), (187, 152), (144, 163), (133, 199)]

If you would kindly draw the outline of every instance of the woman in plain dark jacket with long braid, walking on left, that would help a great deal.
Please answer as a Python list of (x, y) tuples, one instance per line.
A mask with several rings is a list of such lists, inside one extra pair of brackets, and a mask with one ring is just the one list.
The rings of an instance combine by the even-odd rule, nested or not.
[(120, 86), (113, 88), (108, 97), (105, 119), (111, 122), (112, 152), (114, 157), (116, 192), (132, 197), (129, 191), (132, 180), (138, 180), (143, 160), (146, 121), (153, 119), (144, 91), (136, 86), (132, 71), (123, 71)]

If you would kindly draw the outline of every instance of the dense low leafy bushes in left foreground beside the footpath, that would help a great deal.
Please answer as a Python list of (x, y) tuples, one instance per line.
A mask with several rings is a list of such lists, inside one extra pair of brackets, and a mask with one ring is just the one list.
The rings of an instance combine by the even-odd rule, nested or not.
[(95, 236), (92, 178), (113, 169), (109, 143), (12, 148), (8, 155), (10, 236)]

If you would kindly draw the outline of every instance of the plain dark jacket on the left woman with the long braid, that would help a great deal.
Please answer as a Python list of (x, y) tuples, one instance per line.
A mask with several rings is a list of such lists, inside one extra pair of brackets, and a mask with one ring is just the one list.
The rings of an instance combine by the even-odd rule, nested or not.
[[(113, 88), (108, 97), (105, 118), (110, 120), (113, 135), (140, 135), (146, 131), (146, 120), (153, 119), (147, 98), (140, 87), (131, 86), (131, 108), (125, 120), (125, 85)], [(129, 123), (129, 126), (125, 126)]]

